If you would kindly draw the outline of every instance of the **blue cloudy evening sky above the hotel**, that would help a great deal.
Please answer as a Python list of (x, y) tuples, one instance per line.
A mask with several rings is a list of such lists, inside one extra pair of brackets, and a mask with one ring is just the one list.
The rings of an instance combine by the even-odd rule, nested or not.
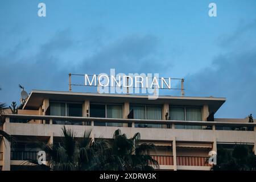
[(186, 96), (226, 97), (216, 116), (244, 118), (256, 114), (256, 1), (5, 0), (0, 63), (8, 105), (19, 102), (18, 84), (68, 90), (69, 72), (115, 68), (184, 77)]

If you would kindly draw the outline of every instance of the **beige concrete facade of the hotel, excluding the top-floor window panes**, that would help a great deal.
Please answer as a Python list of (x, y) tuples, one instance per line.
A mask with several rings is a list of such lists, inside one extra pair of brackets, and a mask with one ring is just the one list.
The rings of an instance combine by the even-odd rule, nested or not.
[[(51, 101), (77, 102), (82, 105), (81, 117), (56, 116), (47, 114)], [(94, 118), (90, 117), (90, 103), (119, 104), (122, 105), (122, 118)], [(10, 135), (19, 137), (20, 144), (28, 144), (25, 138), (39, 138), (43, 142), (53, 143), (61, 136), (61, 128), (64, 125), (54, 121), (65, 120), (71, 124), (66, 127), (76, 133), (76, 137), (82, 137), (87, 129), (92, 129), (91, 137), (111, 139), (117, 129), (121, 129), (127, 137), (133, 137), (135, 133), (141, 134), (142, 142), (151, 142), (156, 146), (152, 152), (153, 158), (158, 160), (160, 169), (169, 170), (209, 170), (209, 164), (204, 161), (209, 158), (208, 152), (217, 151), (217, 144), (246, 143), (255, 148), (256, 123), (248, 123), (246, 119), (214, 119), (207, 121), (209, 113), (216, 113), (225, 98), (214, 97), (172, 97), (159, 96), (157, 100), (148, 100), (146, 96), (117, 95), (117, 94), (93, 94), (75, 92), (53, 92), (32, 90), (26, 104), (18, 114), (7, 113), (6, 122), (3, 125)], [(162, 119), (128, 119), (131, 104), (159, 105), (162, 108)], [(201, 108), (201, 121), (173, 121), (170, 120), (170, 110), (175, 106), (196, 106)], [(18, 120), (15, 120), (18, 119)], [(19, 119), (27, 119), (28, 122), (13, 122)], [(72, 125), (78, 123), (77, 125)], [(87, 126), (85, 123), (90, 122)], [(122, 127), (95, 126), (95, 122), (122, 123)], [(137, 127), (138, 123), (158, 124), (162, 127)], [(202, 129), (178, 129), (177, 125), (207, 126)], [(164, 127), (163, 127), (164, 126)], [(222, 127), (225, 126), (225, 127)], [(221, 128), (221, 129), (220, 129)], [(249, 130), (252, 128), (253, 130)], [(230, 130), (229, 130), (230, 129)], [(0, 166), (2, 170), (10, 170), (12, 166), (26, 165), (14, 156), (11, 144), (1, 141)], [(27, 151), (20, 151), (25, 154)], [(255, 150), (254, 150), (255, 152)], [(0, 154), (1, 154), (0, 153)], [(255, 152), (256, 154), (256, 152)]]

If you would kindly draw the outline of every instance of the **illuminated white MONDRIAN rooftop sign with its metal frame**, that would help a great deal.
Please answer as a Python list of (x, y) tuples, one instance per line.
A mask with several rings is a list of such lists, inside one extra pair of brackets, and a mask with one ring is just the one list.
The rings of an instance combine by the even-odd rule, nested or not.
[[(71, 76), (82, 76), (82, 84), (72, 84)], [(173, 84), (173, 82), (175, 84)], [(174, 88), (180, 82), (180, 88)], [(159, 77), (158, 73), (124, 73), (115, 74), (115, 69), (110, 69), (110, 75), (100, 73), (99, 75), (93, 74), (72, 74), (69, 73), (69, 91), (72, 90), (71, 86), (95, 86), (98, 93), (120, 93), (120, 94), (148, 94), (152, 96), (159, 95), (159, 89), (174, 89), (181, 90), (181, 95), (184, 96), (184, 79)]]

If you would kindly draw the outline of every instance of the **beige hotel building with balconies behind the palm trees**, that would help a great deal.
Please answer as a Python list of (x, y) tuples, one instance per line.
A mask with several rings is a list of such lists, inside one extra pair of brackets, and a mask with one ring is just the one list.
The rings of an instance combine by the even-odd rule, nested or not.
[[(18, 114), (5, 114), (3, 130), (16, 139), (1, 141), (2, 170), (35, 169), (24, 163), (37, 159), (35, 142), (60, 142), (65, 125), (82, 137), (92, 129), (94, 139), (112, 139), (121, 129), (127, 137), (141, 134), (141, 142), (154, 143), (151, 152), (159, 168), (209, 170), (209, 151), (220, 146), (247, 144), (255, 152), (256, 123), (245, 119), (214, 118), (226, 101), (217, 97), (147, 96), (32, 90)], [(245, 113), (248, 114), (248, 113)]]

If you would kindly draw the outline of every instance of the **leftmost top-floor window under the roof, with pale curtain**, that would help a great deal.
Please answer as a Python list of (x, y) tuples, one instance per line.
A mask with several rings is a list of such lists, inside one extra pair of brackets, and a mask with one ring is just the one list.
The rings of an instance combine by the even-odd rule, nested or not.
[(59, 116), (82, 117), (81, 103), (51, 102), (50, 114)]

